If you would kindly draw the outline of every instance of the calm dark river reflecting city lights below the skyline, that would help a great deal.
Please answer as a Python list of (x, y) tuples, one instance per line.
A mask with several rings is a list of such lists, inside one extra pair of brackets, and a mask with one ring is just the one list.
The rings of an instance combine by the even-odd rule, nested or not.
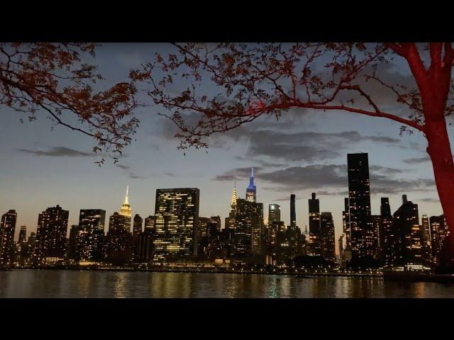
[(0, 297), (454, 297), (454, 285), (380, 278), (0, 271)]

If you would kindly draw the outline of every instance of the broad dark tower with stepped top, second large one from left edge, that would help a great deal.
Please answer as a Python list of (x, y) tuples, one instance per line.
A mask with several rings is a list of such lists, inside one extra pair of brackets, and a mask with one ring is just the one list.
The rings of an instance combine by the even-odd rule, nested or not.
[(70, 212), (60, 205), (38, 215), (36, 247), (38, 263), (52, 264), (65, 260), (66, 234)]

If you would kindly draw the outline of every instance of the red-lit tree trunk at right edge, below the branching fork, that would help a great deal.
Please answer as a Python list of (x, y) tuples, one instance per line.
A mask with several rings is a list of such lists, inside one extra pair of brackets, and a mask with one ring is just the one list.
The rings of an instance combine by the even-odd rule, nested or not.
[(439, 264), (454, 268), (454, 164), (443, 115), (436, 120), (426, 119), (426, 138), (438, 196), (450, 231)]

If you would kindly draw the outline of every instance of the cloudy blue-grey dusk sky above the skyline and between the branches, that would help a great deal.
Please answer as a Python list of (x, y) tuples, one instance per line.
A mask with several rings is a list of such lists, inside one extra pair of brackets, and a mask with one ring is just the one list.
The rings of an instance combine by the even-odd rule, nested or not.
[[(103, 44), (92, 62), (109, 82), (123, 81), (131, 68), (153, 59), (166, 44)], [(398, 65), (393, 77), (405, 77)], [(399, 73), (400, 72), (400, 73)], [(375, 93), (380, 96), (380, 93)], [(390, 102), (388, 111), (393, 110)], [(399, 111), (398, 108), (395, 108)], [(46, 115), (20, 123), (21, 113), (0, 107), (0, 211), (18, 213), (21, 225), (35, 231), (38, 213), (61, 205), (70, 211), (68, 225), (78, 222), (80, 209), (104, 209), (106, 220), (120, 209), (126, 186), (134, 214), (154, 214), (157, 188), (199, 188), (200, 216), (228, 215), (236, 188), (245, 197), (250, 168), (254, 167), (258, 202), (281, 205), (289, 223), (289, 198), (297, 196), (297, 225), (308, 225), (308, 199), (320, 199), (321, 211), (333, 213), (336, 240), (342, 232), (343, 198), (347, 196), (347, 154), (367, 152), (370, 164), (372, 214), (380, 213), (380, 197), (389, 197), (392, 212), (402, 195), (419, 205), (419, 215), (441, 215), (426, 140), (419, 132), (399, 136), (400, 124), (341, 111), (285, 113), (276, 121), (262, 117), (253, 123), (210, 139), (207, 150), (177, 149), (177, 129), (159, 108), (139, 108), (138, 133), (124, 149), (118, 164), (99, 167), (92, 154), (93, 140), (65, 127), (53, 127)], [(53, 128), (52, 128), (53, 127)], [(453, 136), (450, 130), (450, 137)], [(106, 223), (107, 229), (107, 223)], [(337, 242), (336, 242), (337, 246)]]

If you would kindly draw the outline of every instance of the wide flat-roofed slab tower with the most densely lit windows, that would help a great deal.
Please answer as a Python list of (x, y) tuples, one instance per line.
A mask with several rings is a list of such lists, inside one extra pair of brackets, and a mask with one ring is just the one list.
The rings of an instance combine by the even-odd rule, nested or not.
[(197, 188), (156, 190), (155, 262), (181, 261), (197, 255), (199, 196)]

